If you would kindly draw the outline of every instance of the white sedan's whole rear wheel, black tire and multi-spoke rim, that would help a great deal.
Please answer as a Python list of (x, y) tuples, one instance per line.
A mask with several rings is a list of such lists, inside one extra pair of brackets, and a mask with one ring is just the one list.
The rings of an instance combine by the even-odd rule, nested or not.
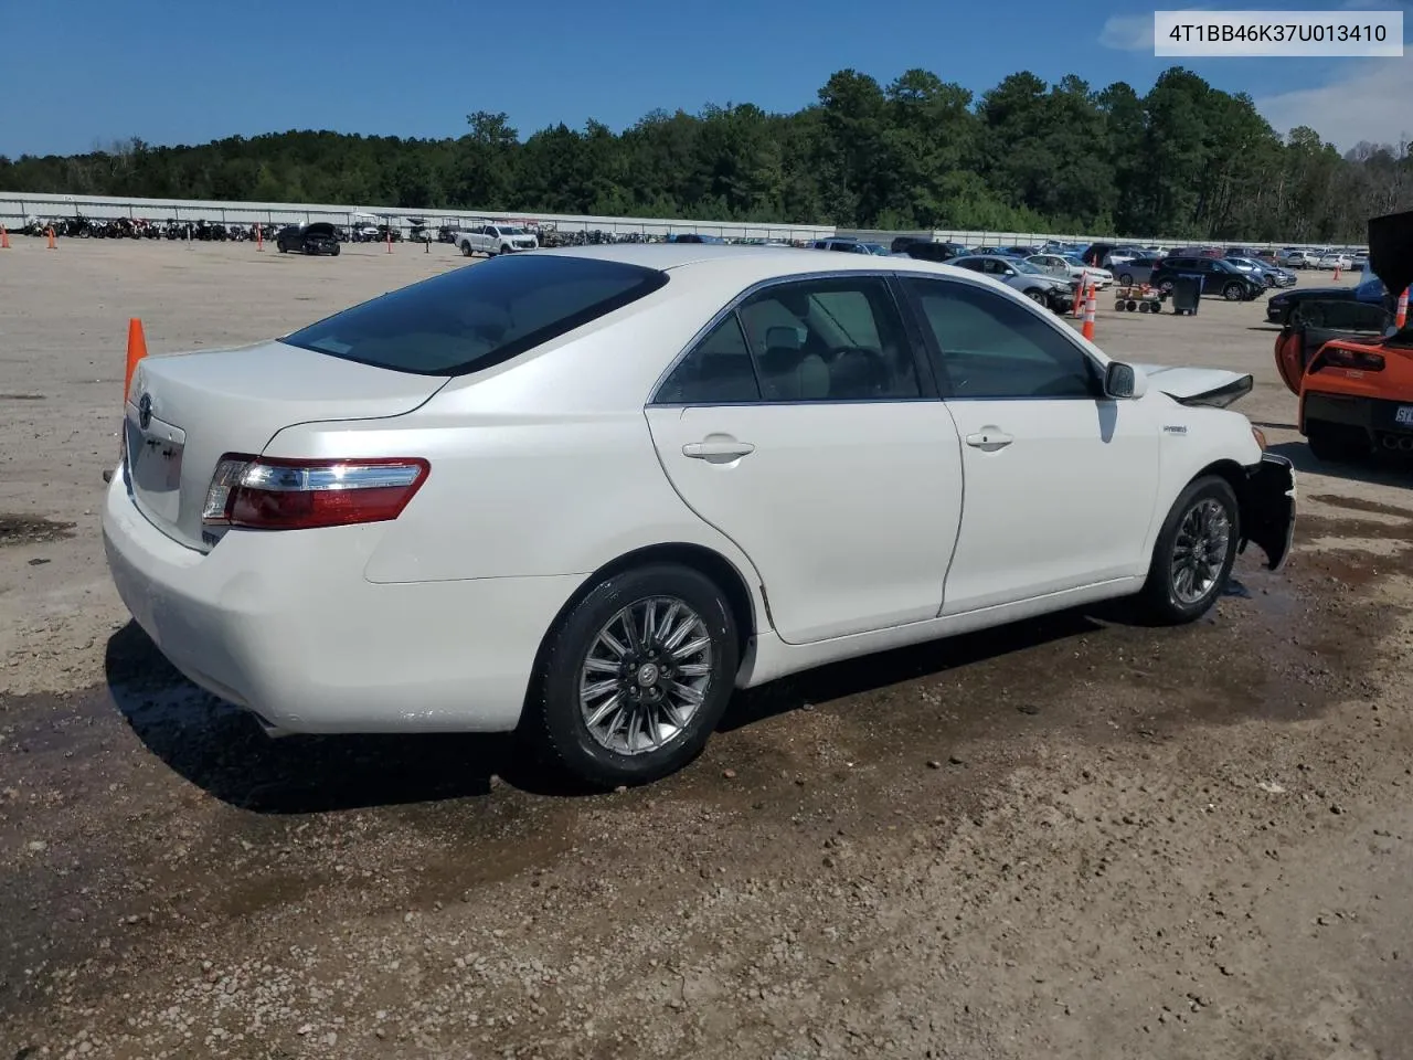
[(704, 574), (656, 564), (610, 575), (551, 630), (527, 735), (593, 787), (657, 780), (701, 753), (738, 664), (731, 605)]

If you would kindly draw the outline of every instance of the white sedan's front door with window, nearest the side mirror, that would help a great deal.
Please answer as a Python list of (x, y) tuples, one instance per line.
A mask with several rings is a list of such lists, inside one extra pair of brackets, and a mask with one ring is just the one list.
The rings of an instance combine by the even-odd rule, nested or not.
[(907, 281), (962, 440), (965, 507), (944, 615), (1147, 568), (1159, 430), (1105, 399), (1065, 325), (981, 284)]

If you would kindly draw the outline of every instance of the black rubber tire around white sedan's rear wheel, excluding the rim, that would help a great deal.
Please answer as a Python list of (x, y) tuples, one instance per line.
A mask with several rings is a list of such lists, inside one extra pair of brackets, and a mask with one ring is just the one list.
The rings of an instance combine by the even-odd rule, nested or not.
[[(584, 724), (579, 669), (592, 637), (603, 625), (646, 596), (677, 596), (701, 615), (712, 637), (712, 680), (706, 701), (674, 743), (644, 755), (619, 755), (601, 746)], [(701, 753), (731, 702), (738, 666), (731, 605), (704, 574), (675, 564), (656, 564), (612, 575), (591, 588), (545, 642), (534, 685), (533, 735), (560, 766), (588, 784), (615, 787), (657, 780)]]

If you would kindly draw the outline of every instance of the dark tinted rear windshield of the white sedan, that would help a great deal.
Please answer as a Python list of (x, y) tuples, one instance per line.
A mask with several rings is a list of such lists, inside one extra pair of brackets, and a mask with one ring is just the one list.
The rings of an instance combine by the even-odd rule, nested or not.
[(285, 336), (291, 346), (424, 376), (499, 365), (663, 287), (622, 261), (524, 253), (390, 291)]

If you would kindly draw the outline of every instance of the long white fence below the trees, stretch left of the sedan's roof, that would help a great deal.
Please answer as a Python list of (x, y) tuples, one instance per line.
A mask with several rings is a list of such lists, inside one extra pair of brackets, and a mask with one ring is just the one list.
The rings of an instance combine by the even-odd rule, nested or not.
[(558, 232), (615, 232), (667, 236), (695, 232), (723, 239), (825, 239), (832, 225), (764, 225), (726, 220), (673, 220), (667, 218), (593, 218), (564, 213), (507, 213), (502, 211), (393, 209), (389, 206), (348, 206), (309, 202), (201, 202), (195, 199), (105, 198), (97, 195), (40, 195), (0, 191), (0, 223), (23, 228), (28, 219), (85, 216), (95, 219), (130, 218), (133, 220), (208, 220), (222, 225), (298, 225), (328, 220), (335, 225), (360, 223), (377, 218), (400, 229), (415, 218), (432, 228), (466, 225), (487, 219), (514, 220), (538, 229)]

